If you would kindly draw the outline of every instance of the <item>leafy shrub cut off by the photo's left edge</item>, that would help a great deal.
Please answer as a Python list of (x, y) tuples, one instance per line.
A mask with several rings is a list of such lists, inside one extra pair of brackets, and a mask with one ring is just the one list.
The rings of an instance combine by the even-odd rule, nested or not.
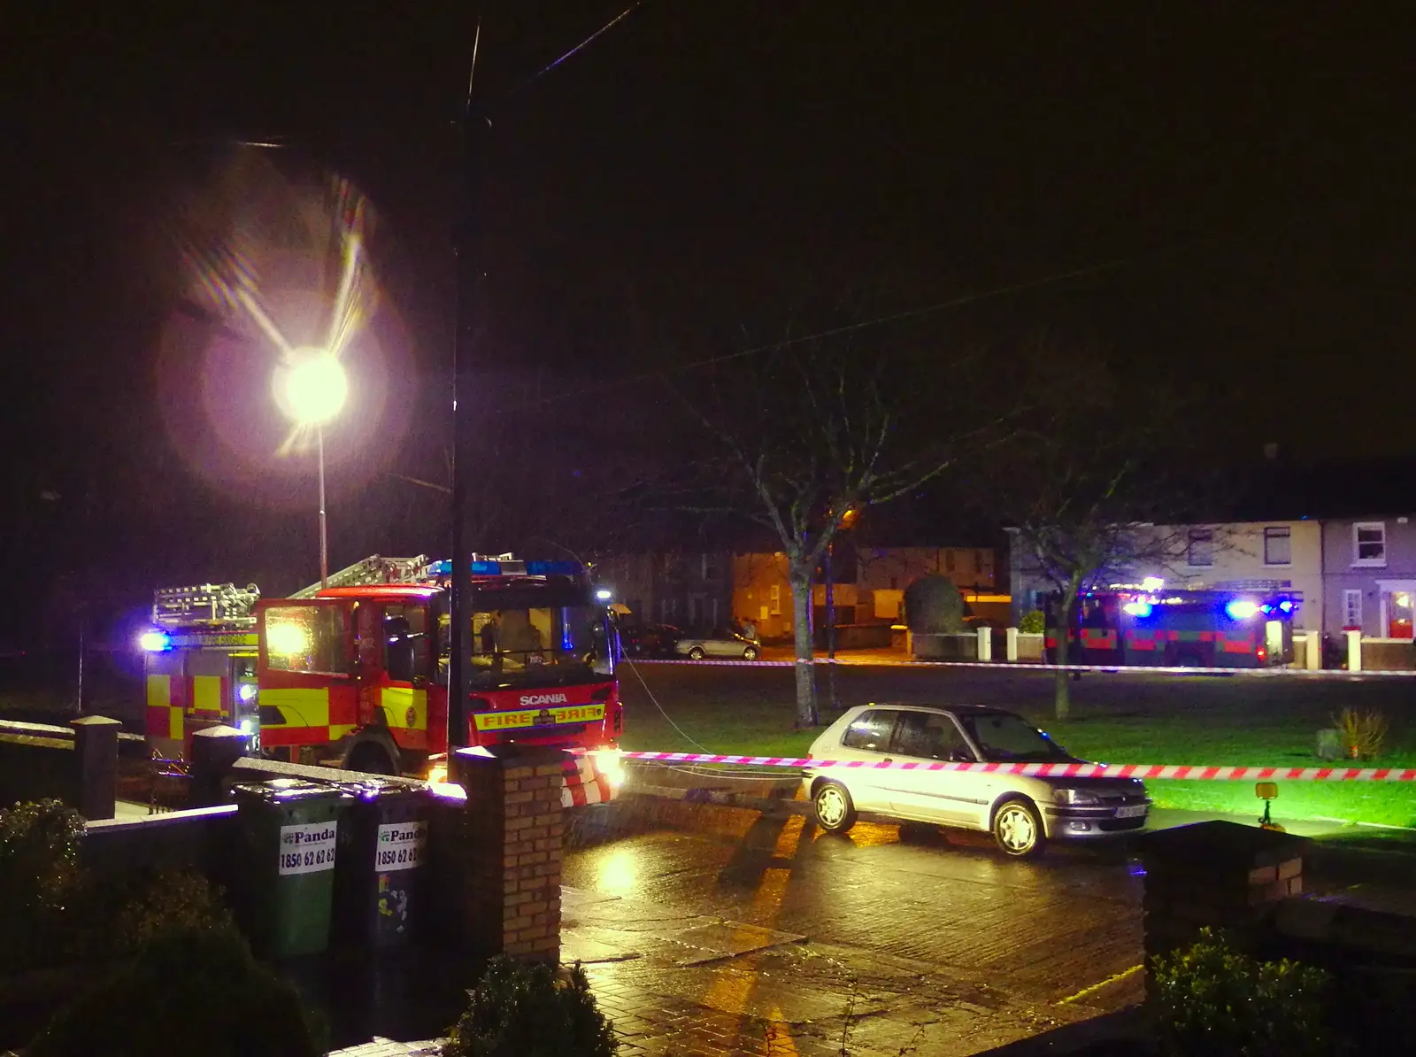
[(58, 801), (0, 810), (0, 963), (27, 969), (54, 948), (59, 914), (78, 877), (84, 819)]

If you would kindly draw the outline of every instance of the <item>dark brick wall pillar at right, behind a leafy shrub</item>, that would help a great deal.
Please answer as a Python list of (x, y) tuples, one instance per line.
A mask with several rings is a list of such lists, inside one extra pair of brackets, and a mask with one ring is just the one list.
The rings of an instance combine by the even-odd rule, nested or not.
[(1158, 954), (1189, 946), (1205, 925), (1252, 951), (1279, 901), (1303, 891), (1308, 842), (1257, 826), (1201, 822), (1144, 837), (1146, 971)]

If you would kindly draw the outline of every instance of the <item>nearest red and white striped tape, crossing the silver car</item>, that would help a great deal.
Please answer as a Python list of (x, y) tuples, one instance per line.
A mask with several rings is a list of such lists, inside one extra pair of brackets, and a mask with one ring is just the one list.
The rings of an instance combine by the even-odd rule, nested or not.
[(790, 767), (811, 771), (971, 771), (1029, 778), (1177, 778), (1239, 782), (1416, 782), (1416, 767), (1201, 767), (1178, 764), (953, 764), (868, 759), (813, 759), (810, 757), (736, 757), (708, 752), (622, 752), (624, 759), (660, 764), (738, 764)]

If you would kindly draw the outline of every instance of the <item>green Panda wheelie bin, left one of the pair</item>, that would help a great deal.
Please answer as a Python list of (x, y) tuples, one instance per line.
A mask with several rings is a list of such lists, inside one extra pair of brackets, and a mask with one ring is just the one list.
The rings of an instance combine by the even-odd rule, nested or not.
[(245, 917), (270, 958), (319, 954), (330, 942), (334, 860), (350, 795), (337, 785), (276, 778), (236, 785), (245, 842)]

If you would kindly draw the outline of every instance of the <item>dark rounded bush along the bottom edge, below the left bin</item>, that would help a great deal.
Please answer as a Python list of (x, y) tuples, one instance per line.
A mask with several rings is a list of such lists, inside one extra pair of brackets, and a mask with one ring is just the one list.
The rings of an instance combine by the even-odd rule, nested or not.
[(228, 929), (166, 931), (65, 1007), (25, 1057), (317, 1057), (295, 989)]

